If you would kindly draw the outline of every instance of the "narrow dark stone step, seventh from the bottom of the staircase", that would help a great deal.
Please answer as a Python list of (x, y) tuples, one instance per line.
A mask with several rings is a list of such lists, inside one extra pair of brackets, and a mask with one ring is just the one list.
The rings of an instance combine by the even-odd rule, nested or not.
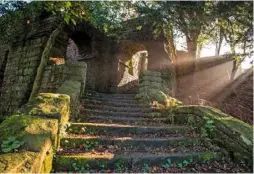
[(81, 103), (83, 106), (86, 104), (95, 104), (95, 105), (106, 105), (106, 106), (115, 106), (115, 107), (142, 107), (142, 108), (151, 108), (151, 104), (142, 104), (138, 102), (122, 102), (122, 101), (114, 101), (114, 100), (91, 100), (91, 99), (82, 99)]

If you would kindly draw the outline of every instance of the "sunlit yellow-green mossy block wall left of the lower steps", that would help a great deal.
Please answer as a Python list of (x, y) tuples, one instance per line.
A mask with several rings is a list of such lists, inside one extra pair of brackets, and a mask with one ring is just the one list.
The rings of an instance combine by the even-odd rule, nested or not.
[(0, 143), (9, 136), (25, 143), (18, 152), (0, 152), (0, 172), (49, 173), (69, 115), (69, 96), (41, 93), (2, 122)]

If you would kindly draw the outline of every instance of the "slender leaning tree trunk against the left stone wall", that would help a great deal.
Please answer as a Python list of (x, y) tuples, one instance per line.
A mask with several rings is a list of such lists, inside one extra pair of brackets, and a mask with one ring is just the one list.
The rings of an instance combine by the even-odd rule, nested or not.
[(34, 83), (33, 83), (33, 88), (32, 88), (32, 92), (31, 92), (30, 97), (29, 97), (29, 101), (31, 101), (39, 92), (39, 89), (40, 89), (40, 86), (41, 86), (41, 80), (42, 80), (42, 77), (43, 77), (43, 72), (44, 72), (44, 69), (47, 65), (47, 61), (49, 59), (49, 54), (50, 54), (51, 48), (54, 45), (56, 37), (61, 32), (62, 28), (63, 28), (63, 23), (61, 23), (52, 32), (52, 34), (50, 35), (50, 37), (49, 37), (49, 39), (46, 43), (46, 46), (45, 46), (45, 48), (42, 52), (40, 65), (37, 69), (37, 74), (36, 74), (36, 77), (35, 77), (35, 80), (34, 80)]

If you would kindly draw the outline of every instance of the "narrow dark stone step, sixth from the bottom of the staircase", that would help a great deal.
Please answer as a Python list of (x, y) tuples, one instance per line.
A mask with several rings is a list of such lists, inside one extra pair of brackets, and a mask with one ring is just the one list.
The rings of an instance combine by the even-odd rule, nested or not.
[(100, 109), (113, 112), (152, 112), (156, 111), (156, 108), (142, 108), (142, 107), (116, 107), (116, 106), (107, 106), (107, 105), (95, 105), (87, 103), (85, 105), (86, 109)]

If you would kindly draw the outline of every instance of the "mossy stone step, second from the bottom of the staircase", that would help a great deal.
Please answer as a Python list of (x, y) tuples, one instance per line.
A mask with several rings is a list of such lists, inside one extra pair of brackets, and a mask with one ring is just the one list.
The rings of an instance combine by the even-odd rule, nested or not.
[[(173, 147), (188, 147), (201, 145), (201, 139), (197, 137), (169, 137), (169, 138), (131, 138), (131, 137), (78, 137), (69, 136), (61, 139), (62, 148), (98, 148), (100, 146), (117, 146), (125, 148), (136, 148), (145, 150), (146, 148), (173, 148)], [(150, 149), (151, 150), (151, 149)]]

